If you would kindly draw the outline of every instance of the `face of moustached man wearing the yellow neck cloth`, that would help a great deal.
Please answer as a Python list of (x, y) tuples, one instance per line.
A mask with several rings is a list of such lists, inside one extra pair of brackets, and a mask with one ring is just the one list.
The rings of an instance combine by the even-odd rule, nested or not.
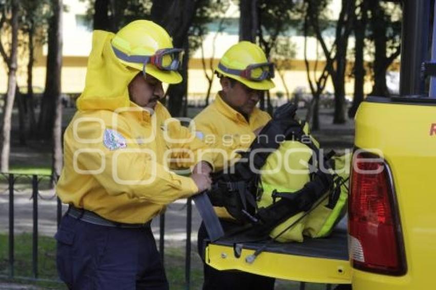
[(153, 109), (157, 101), (164, 96), (162, 81), (157, 78), (138, 73), (129, 84), (130, 100), (136, 105)]

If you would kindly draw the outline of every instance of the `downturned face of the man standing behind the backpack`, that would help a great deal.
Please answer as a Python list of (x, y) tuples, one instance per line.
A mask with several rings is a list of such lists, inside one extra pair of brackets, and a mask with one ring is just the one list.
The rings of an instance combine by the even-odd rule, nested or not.
[(221, 78), (221, 86), (224, 93), (222, 97), (227, 105), (246, 116), (253, 112), (257, 102), (265, 92), (250, 89), (239, 81), (234, 81), (232, 85), (227, 77)]

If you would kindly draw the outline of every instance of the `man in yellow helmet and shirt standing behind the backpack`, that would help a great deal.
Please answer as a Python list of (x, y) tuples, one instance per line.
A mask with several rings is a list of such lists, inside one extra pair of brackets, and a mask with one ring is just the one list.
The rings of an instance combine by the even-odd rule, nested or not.
[[(256, 108), (256, 104), (266, 90), (274, 87), (271, 81), (273, 71), (273, 64), (268, 62), (259, 46), (240, 42), (230, 47), (215, 69), (222, 90), (216, 95), (215, 101), (194, 118), (197, 136), (226, 152), (247, 149), (255, 134), (271, 119), (267, 113)], [(224, 208), (215, 208), (215, 212), (225, 232), (237, 226)], [(202, 223), (198, 237), (201, 256), (207, 237)], [(270, 277), (218, 271), (204, 265), (203, 290), (269, 290), (274, 288), (274, 282)]]

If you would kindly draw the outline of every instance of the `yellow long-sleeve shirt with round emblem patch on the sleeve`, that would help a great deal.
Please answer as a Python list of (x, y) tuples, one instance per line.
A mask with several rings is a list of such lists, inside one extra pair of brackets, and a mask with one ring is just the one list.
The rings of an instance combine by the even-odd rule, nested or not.
[(205, 144), (162, 105), (152, 116), (137, 109), (76, 113), (64, 135), (65, 165), (57, 184), (64, 203), (113, 221), (142, 223), (197, 192), (191, 178), (169, 167), (190, 167), (200, 158), (213, 163), (210, 155), (198, 155)]

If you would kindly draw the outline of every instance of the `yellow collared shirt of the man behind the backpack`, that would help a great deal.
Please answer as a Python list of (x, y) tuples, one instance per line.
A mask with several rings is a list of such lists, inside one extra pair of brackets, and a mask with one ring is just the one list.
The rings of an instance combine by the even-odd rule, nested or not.
[[(253, 131), (265, 126), (270, 119), (266, 112), (254, 108), (247, 121), (217, 94), (215, 101), (194, 118), (194, 123), (197, 136), (210, 146), (237, 152), (247, 149), (254, 140)], [(221, 218), (230, 218), (224, 208), (215, 207), (215, 212)]]

